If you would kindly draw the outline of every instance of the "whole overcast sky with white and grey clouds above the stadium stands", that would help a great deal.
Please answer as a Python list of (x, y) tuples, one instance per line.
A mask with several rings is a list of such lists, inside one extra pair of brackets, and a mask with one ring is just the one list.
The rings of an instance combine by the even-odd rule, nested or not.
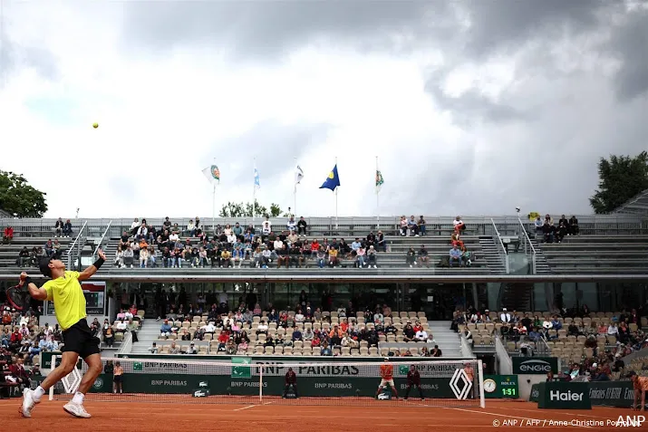
[[(0, 169), (46, 216), (590, 213), (648, 148), (648, 4), (0, 0)], [(92, 123), (99, 129), (93, 130)]]

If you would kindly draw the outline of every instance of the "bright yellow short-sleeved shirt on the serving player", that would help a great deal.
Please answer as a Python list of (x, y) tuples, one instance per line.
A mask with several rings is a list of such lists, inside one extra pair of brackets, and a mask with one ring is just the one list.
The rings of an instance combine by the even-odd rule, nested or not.
[(47, 292), (47, 300), (54, 302), (54, 313), (62, 330), (85, 318), (85, 296), (79, 272), (65, 272), (63, 277), (44, 283), (43, 289)]

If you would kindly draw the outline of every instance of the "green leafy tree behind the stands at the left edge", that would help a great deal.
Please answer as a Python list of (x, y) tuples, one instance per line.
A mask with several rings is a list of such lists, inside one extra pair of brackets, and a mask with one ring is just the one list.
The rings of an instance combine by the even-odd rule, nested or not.
[(0, 208), (18, 217), (43, 217), (45, 193), (29, 186), (21, 174), (0, 171)]

